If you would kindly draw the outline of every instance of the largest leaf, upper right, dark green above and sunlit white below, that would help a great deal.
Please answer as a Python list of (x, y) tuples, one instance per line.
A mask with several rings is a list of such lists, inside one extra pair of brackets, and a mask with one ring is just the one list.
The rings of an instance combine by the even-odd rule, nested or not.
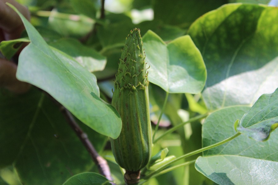
[(278, 9), (228, 4), (197, 19), (188, 34), (208, 71), (208, 109), (254, 104), (278, 87)]

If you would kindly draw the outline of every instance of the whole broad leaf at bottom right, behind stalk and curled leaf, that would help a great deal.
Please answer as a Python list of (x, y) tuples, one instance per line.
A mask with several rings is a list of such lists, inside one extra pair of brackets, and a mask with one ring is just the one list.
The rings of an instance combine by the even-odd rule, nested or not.
[[(203, 125), (203, 147), (236, 134), (234, 121), (249, 110), (250, 107), (234, 106), (209, 115)], [(266, 142), (240, 135), (230, 142), (204, 151), (195, 167), (218, 184), (275, 184), (275, 170), (278, 167), (277, 139), (277, 130)]]

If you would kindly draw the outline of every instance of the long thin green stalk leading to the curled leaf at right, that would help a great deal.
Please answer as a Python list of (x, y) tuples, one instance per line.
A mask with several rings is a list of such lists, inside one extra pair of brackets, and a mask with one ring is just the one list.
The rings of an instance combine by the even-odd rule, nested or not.
[(201, 153), (201, 152), (203, 152), (203, 151), (205, 151), (205, 150), (212, 149), (212, 148), (214, 148), (214, 147), (220, 146), (220, 145), (222, 145), (222, 144), (224, 144), (224, 143), (226, 143), (226, 142), (229, 142), (229, 141), (233, 140), (234, 138), (238, 137), (240, 134), (241, 134), (241, 133), (238, 132), (238, 133), (234, 134), (233, 136), (231, 136), (230, 138), (227, 138), (227, 139), (225, 139), (225, 140), (223, 140), (223, 141), (221, 141), (221, 142), (218, 142), (218, 143), (215, 143), (215, 144), (213, 144), (213, 145), (206, 146), (206, 147), (204, 147), (204, 148), (200, 148), (200, 149), (195, 150), (195, 151), (193, 151), (193, 152), (190, 152), (190, 153), (188, 153), (188, 154), (182, 155), (182, 156), (180, 156), (179, 158), (176, 158), (175, 160), (173, 160), (173, 161), (171, 161), (171, 162), (169, 162), (169, 163), (163, 165), (162, 167), (158, 168), (157, 170), (152, 171), (152, 172), (150, 172), (149, 174), (145, 175), (145, 176), (144, 176), (144, 179), (149, 179), (151, 176), (153, 176), (153, 175), (157, 174), (158, 172), (162, 171), (164, 168), (170, 166), (170, 165), (173, 164), (174, 162), (177, 162), (177, 161), (179, 161), (179, 160), (181, 160), (181, 159), (190, 157), (190, 156), (195, 155), (195, 154), (199, 154), (199, 153)]

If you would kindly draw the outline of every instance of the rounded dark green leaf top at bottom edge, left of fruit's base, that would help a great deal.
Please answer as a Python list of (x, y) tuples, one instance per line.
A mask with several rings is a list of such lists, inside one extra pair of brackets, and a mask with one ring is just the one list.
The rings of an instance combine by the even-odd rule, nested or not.
[(111, 185), (102, 175), (87, 172), (74, 175), (68, 179), (63, 185)]

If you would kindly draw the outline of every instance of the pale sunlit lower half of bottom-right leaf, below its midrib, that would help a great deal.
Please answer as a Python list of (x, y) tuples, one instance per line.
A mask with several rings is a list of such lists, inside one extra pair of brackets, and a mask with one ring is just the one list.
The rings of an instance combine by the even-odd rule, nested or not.
[(278, 162), (248, 157), (199, 157), (196, 169), (220, 185), (276, 184)]

